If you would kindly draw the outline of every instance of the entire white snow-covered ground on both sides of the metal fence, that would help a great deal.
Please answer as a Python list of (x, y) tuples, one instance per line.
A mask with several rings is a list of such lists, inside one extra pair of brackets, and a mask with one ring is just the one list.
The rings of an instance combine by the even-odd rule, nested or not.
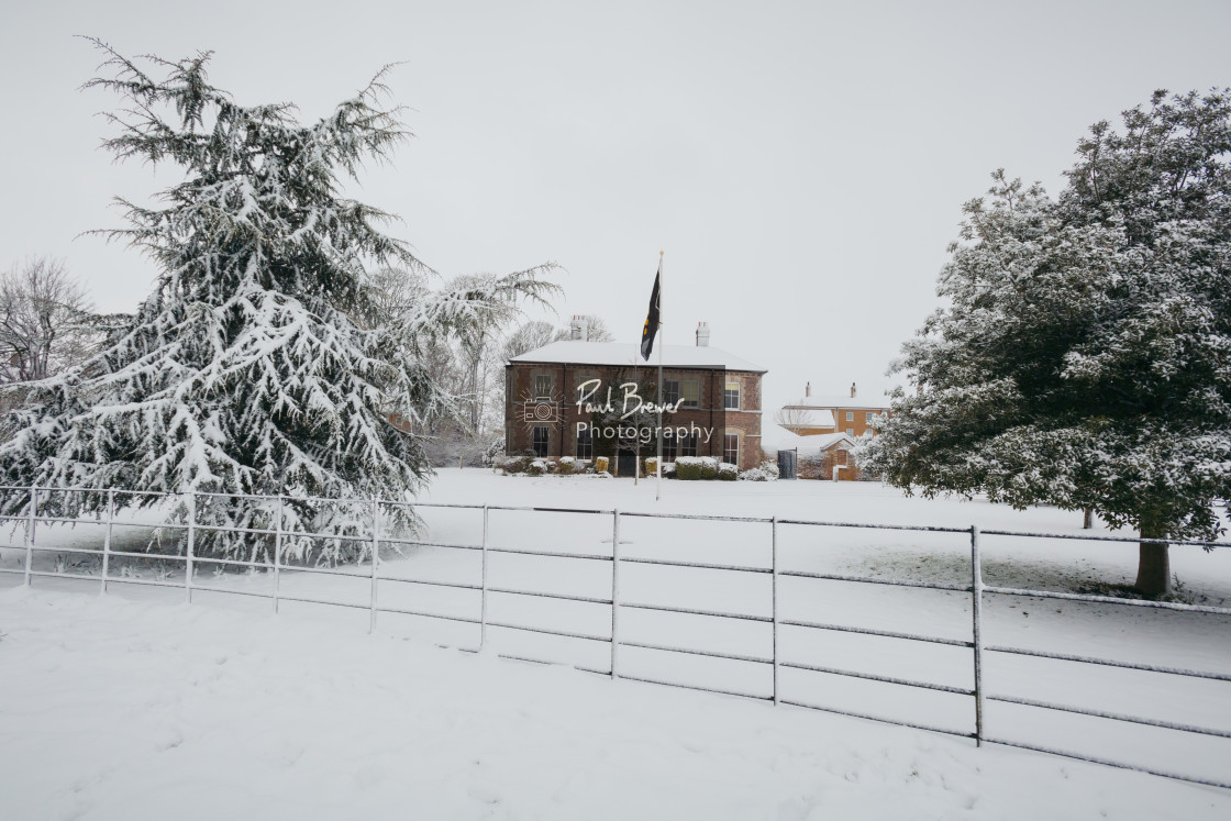
[[(1080, 533), (1080, 515), (904, 499), (867, 484), (499, 478), (446, 470), (425, 501), (538, 505)], [(478, 544), (475, 511), (422, 508), (430, 540)], [(611, 516), (491, 512), (492, 545), (611, 555)], [(39, 544), (97, 540), (39, 526)], [(144, 538), (139, 532), (130, 539)], [(20, 533), (9, 544), (20, 544)], [(622, 558), (766, 566), (767, 524), (622, 517)], [(1075, 590), (1131, 581), (1134, 544), (985, 537), (988, 583)], [(478, 581), (474, 551), (385, 551), (382, 572)], [(1172, 548), (1188, 601), (1231, 602), (1231, 551)], [(20, 567), (0, 549), (0, 567)], [(69, 567), (71, 554), (38, 554)], [(782, 526), (779, 563), (819, 572), (965, 583), (969, 537)], [(356, 579), (283, 574), (282, 592), (366, 604)], [(75, 571), (90, 572), (89, 564)], [(116, 572), (113, 569), (112, 572)], [(135, 569), (146, 577), (151, 567)], [(620, 601), (768, 614), (763, 575), (622, 565)], [(174, 572), (167, 580), (174, 581)], [(182, 579), (182, 576), (180, 576)], [(20, 576), (0, 576), (14, 586)], [(265, 591), (267, 574), (198, 585)], [(492, 587), (611, 595), (611, 563), (492, 555)], [(938, 734), (611, 682), (436, 647), (478, 627), (94, 580), (0, 593), (0, 816), (41, 817), (1224, 817), (1231, 794)], [(382, 581), (382, 606), (478, 617), (478, 593)], [(489, 618), (602, 635), (611, 609), (491, 595)], [(969, 638), (960, 592), (783, 580), (784, 619)], [(1221, 617), (1040, 599), (985, 603), (985, 641), (1231, 672)], [(620, 636), (763, 657), (757, 622), (622, 611)], [(969, 650), (784, 628), (783, 659), (969, 687)], [(489, 650), (606, 670), (609, 645), (489, 628)], [(628, 676), (767, 695), (766, 665), (622, 647)], [(985, 656), (991, 693), (1231, 730), (1231, 683)], [(968, 732), (969, 697), (783, 670), (783, 698)], [(1231, 741), (988, 703), (988, 735), (1227, 780)]]

